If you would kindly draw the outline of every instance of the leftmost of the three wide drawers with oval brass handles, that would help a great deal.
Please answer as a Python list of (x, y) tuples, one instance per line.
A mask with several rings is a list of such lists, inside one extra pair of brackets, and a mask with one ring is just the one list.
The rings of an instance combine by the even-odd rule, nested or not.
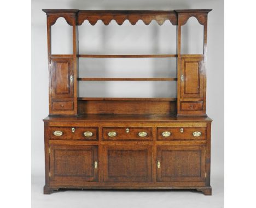
[(50, 139), (97, 140), (97, 127), (49, 127)]

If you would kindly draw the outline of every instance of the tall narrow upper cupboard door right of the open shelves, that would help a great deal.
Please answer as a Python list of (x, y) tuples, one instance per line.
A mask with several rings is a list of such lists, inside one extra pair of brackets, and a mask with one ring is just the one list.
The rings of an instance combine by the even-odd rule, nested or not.
[(181, 59), (181, 98), (203, 98), (202, 57)]

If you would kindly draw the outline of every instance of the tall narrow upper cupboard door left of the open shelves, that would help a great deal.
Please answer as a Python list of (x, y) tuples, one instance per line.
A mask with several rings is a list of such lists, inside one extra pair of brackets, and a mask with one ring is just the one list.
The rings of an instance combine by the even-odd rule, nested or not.
[(51, 59), (51, 98), (73, 98), (74, 75), (72, 58)]

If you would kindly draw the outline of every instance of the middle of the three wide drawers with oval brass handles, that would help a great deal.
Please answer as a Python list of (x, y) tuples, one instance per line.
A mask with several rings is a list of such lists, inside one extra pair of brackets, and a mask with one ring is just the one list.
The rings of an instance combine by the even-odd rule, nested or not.
[(103, 140), (152, 140), (147, 127), (103, 127)]

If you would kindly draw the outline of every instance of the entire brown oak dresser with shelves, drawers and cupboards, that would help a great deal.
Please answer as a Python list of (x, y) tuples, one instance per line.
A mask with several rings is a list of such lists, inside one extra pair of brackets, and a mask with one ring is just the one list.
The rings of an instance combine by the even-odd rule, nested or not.
[[(207, 16), (211, 9), (43, 9), (47, 16), (49, 116), (44, 121), (44, 194), (60, 188), (197, 189), (211, 195), (211, 122), (206, 115)], [(51, 26), (63, 17), (73, 54), (51, 53)], [(181, 54), (190, 17), (203, 26), (203, 53)], [(88, 20), (122, 25), (166, 20), (177, 28), (177, 54), (79, 54), (78, 27)], [(118, 26), (117, 26), (118, 27)], [(78, 77), (79, 58), (174, 58), (176, 77)], [(171, 81), (176, 97), (80, 97), (83, 81)]]

